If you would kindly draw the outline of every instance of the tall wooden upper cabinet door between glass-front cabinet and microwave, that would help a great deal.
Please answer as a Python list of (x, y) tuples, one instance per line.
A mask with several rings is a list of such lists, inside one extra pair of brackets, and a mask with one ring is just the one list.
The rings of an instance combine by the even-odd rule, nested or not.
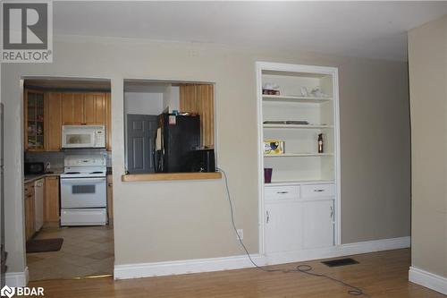
[(59, 151), (62, 139), (63, 93), (49, 92), (45, 95), (45, 150)]

